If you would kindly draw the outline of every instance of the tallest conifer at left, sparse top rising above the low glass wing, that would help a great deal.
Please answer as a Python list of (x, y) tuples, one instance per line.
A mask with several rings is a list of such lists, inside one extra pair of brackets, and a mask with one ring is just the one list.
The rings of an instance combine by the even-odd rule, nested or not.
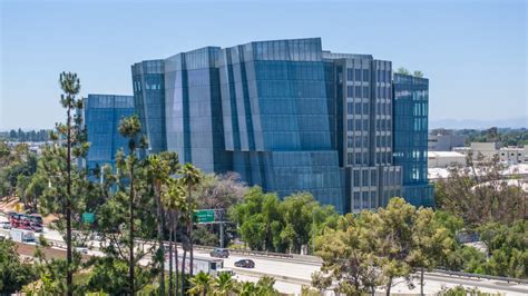
[[(82, 108), (82, 98), (78, 98), (80, 91), (79, 78), (76, 73), (62, 72), (59, 78), (62, 95), (60, 102), (66, 109), (66, 124), (57, 124), (57, 132), (52, 132), (51, 138), (58, 142), (46, 147), (42, 151), (42, 160), (39, 162), (41, 172), (51, 185), (42, 193), (40, 209), (43, 214), (63, 214), (63, 223), (59, 221), (60, 229), (66, 230), (66, 274), (67, 295), (74, 293), (72, 275), (75, 267), (72, 251), (72, 214), (78, 214), (79, 206), (86, 199), (85, 186), (86, 175), (82, 170), (76, 169), (74, 159), (86, 157), (89, 145), (86, 142), (86, 130), (81, 122), (80, 112), (74, 115)], [(66, 147), (65, 147), (66, 146)], [(61, 266), (59, 264), (59, 266)], [(57, 275), (60, 276), (60, 275)], [(58, 280), (58, 277), (52, 278)]]

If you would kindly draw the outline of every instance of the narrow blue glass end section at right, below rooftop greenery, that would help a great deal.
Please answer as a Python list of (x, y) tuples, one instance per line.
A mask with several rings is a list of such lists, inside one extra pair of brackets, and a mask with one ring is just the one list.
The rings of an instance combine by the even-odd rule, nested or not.
[(434, 206), (428, 184), (429, 80), (394, 75), (394, 164), (403, 168), (403, 197), (417, 206)]

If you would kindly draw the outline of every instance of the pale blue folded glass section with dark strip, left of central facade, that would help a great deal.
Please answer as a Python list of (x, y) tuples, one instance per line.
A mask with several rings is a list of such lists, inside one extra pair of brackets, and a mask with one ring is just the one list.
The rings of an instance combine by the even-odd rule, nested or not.
[(165, 60), (167, 149), (206, 172), (232, 168), (224, 145), (219, 50), (206, 47)]

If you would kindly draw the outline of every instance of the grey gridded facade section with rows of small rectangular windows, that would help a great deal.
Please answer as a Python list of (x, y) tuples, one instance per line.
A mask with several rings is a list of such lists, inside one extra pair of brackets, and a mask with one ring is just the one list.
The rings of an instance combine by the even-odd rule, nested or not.
[[(401, 195), (401, 167), (392, 161), (392, 63), (369, 55), (323, 53), (335, 149), (352, 213), (387, 205)], [(333, 119), (332, 119), (333, 118)]]

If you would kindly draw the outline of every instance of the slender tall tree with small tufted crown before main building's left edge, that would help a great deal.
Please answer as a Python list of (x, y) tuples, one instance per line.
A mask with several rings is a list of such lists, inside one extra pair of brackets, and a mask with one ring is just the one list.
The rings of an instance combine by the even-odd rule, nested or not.
[(126, 166), (128, 169), (129, 178), (130, 178), (130, 191), (128, 197), (128, 210), (129, 210), (129, 233), (128, 233), (128, 244), (129, 244), (129, 258), (128, 258), (128, 285), (130, 288), (130, 294), (134, 295), (136, 293), (135, 285), (134, 285), (134, 199), (136, 196), (135, 193), (135, 167), (137, 165), (136, 158), (136, 137), (141, 130), (141, 124), (139, 124), (139, 118), (136, 115), (130, 117), (126, 117), (121, 119), (119, 122), (119, 134), (125, 138), (128, 138), (128, 149), (129, 155), (126, 160)]

